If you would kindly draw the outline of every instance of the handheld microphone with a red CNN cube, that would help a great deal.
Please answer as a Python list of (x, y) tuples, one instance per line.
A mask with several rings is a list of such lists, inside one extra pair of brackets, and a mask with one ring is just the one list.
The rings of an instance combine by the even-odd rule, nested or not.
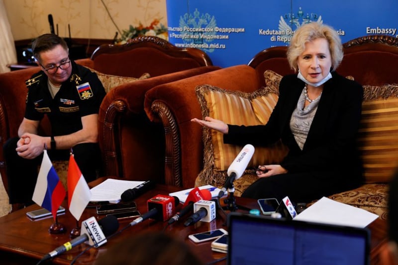
[(176, 196), (156, 195), (147, 201), (148, 212), (134, 219), (129, 225), (134, 226), (149, 218), (155, 220), (169, 220), (176, 213), (176, 206), (180, 199)]

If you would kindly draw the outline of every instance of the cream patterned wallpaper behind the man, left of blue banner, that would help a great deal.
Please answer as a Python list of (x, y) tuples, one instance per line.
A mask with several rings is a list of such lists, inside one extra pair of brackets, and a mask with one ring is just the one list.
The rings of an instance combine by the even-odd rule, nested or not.
[[(117, 31), (154, 19), (167, 26), (166, 0), (3, 0), (14, 40), (50, 32), (52, 14), (58, 35), (113, 39)], [(106, 6), (106, 8), (105, 8)], [(109, 16), (110, 14), (110, 16)], [(112, 21), (113, 20), (113, 21)], [(120, 32), (118, 37), (120, 37)]]

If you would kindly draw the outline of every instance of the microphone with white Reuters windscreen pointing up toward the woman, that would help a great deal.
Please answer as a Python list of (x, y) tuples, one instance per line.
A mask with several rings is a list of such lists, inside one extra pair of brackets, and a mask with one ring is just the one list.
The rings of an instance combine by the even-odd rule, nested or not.
[(235, 157), (232, 164), (228, 167), (227, 170), (228, 178), (225, 181), (224, 186), (218, 193), (218, 198), (224, 196), (225, 191), (228, 188), (232, 187), (232, 182), (235, 179), (239, 179), (242, 176), (243, 172), (246, 170), (246, 167), (250, 162), (250, 159), (252, 159), (253, 154), (254, 154), (253, 145), (246, 144), (245, 146), (243, 146), (242, 150)]

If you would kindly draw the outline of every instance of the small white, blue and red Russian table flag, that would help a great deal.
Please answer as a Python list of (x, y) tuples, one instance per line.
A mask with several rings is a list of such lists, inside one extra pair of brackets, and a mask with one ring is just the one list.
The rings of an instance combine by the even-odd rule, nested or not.
[(64, 200), (66, 191), (59, 180), (57, 172), (48, 157), (47, 150), (43, 152), (43, 160), (37, 177), (32, 200), (53, 214), (54, 221), (57, 210)]

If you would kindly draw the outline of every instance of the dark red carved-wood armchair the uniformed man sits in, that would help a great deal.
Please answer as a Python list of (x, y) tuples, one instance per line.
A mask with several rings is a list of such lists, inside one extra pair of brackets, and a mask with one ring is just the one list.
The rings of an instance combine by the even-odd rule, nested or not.
[[(102, 45), (91, 58), (76, 61), (124, 83), (105, 96), (99, 113), (99, 141), (105, 174), (127, 179), (156, 179), (164, 182), (164, 133), (146, 118), (144, 94), (152, 87), (219, 69), (201, 50), (177, 48), (153, 36), (137, 37), (123, 45)], [(37, 72), (32, 67), (0, 74), (0, 144), (17, 135), (24, 115), (25, 80)], [(148, 73), (150, 78), (132, 80)], [(106, 75), (105, 75), (106, 74)], [(114, 75), (114, 76), (109, 76)], [(106, 80), (107, 80), (106, 79)], [(126, 83), (127, 82), (127, 83)], [(50, 135), (49, 124), (41, 123), (40, 133)], [(66, 176), (66, 167), (58, 169)], [(0, 148), (0, 174), (7, 189), (6, 164)]]

